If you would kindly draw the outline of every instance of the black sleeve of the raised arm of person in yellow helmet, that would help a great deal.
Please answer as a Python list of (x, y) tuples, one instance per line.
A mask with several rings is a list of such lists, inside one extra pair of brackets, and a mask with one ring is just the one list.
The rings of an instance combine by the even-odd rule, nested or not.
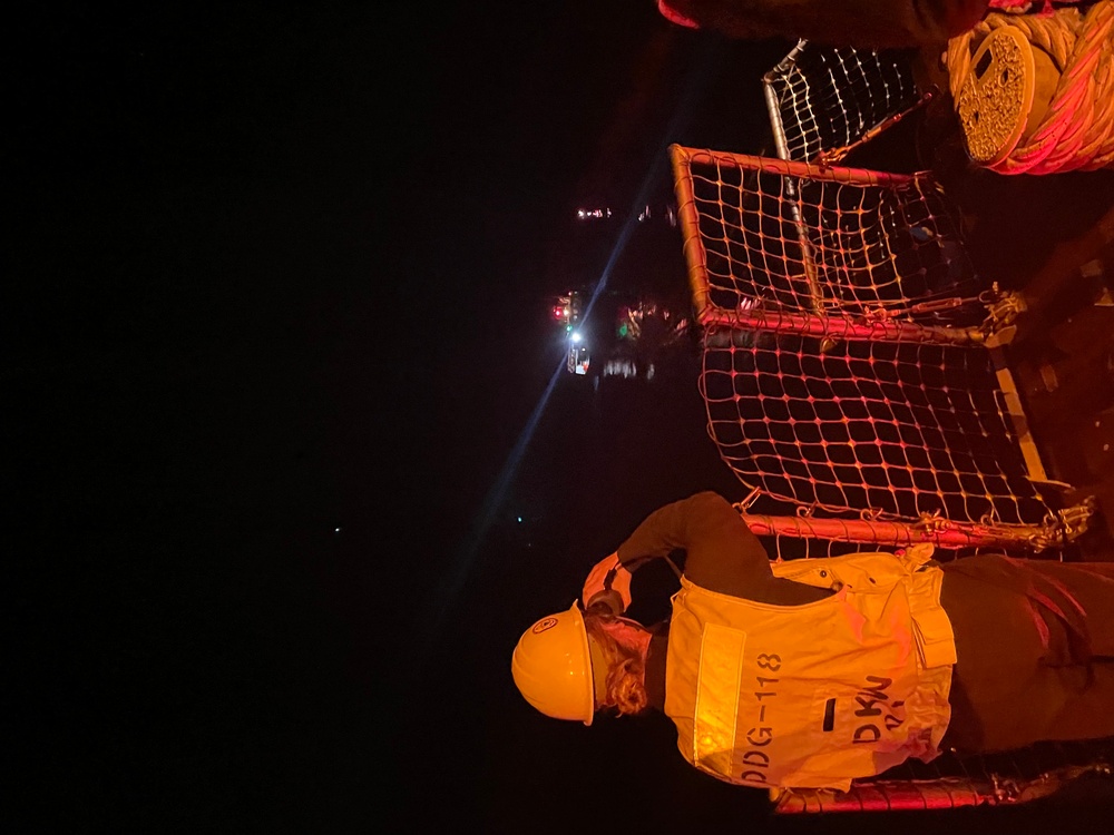
[(619, 561), (636, 569), (641, 560), (683, 550), (685, 577), (697, 586), (759, 602), (793, 606), (830, 591), (775, 578), (770, 558), (739, 511), (719, 493), (696, 493), (655, 510), (618, 548)]

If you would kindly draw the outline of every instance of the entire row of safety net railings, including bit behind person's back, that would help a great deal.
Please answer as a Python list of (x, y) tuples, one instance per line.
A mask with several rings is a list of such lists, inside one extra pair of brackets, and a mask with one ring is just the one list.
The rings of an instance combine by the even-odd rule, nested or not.
[[(905, 58), (801, 41), (764, 84), (780, 160), (671, 149), (707, 428), (751, 489), (736, 509), (776, 560), (1063, 548), (1092, 508), (1042, 494), (995, 350), (1010, 304), (980, 285), (942, 189), (832, 167), (928, 100)], [(771, 799), (779, 814), (1016, 805), (1112, 764), (1114, 739), (945, 753)]]

